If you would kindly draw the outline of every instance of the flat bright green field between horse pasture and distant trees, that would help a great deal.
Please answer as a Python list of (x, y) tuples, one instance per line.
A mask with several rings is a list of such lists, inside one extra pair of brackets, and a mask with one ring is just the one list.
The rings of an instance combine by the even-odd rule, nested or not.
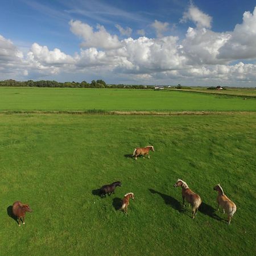
[(0, 111), (256, 111), (256, 98), (174, 90), (1, 88)]

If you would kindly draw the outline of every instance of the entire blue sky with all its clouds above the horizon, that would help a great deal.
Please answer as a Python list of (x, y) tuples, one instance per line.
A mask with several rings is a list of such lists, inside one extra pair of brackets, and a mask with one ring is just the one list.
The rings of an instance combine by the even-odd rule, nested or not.
[(0, 0), (0, 80), (256, 87), (251, 0)]

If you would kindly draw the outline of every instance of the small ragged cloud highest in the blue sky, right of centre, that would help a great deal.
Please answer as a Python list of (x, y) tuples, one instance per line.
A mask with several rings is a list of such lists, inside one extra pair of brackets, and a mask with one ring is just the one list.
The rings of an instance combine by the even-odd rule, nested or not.
[(183, 13), (180, 22), (187, 22), (187, 20), (194, 22), (197, 27), (205, 28), (210, 28), (212, 23), (212, 17), (203, 13), (203, 11), (199, 10), (193, 4), (191, 4), (188, 10)]

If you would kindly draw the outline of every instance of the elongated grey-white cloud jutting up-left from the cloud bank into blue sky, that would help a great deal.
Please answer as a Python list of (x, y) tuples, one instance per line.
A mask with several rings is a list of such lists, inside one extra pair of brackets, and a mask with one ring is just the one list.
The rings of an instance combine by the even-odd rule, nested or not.
[(81, 43), (81, 47), (90, 48), (104, 48), (104, 49), (115, 49), (121, 47), (121, 43), (118, 40), (117, 35), (110, 35), (105, 30), (104, 26), (97, 25), (98, 31), (93, 31), (93, 27), (90, 27), (86, 23), (82, 23), (80, 20), (71, 20), (69, 22), (71, 31), (73, 34), (80, 36), (84, 39)]

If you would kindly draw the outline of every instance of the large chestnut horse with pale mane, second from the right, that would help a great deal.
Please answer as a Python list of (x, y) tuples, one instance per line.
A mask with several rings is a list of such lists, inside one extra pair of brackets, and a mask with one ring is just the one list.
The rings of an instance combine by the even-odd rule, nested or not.
[(185, 199), (188, 202), (188, 205), (191, 204), (193, 218), (195, 218), (197, 210), (200, 207), (200, 204), (202, 203), (200, 196), (194, 193), (193, 191), (191, 191), (187, 183), (185, 183), (185, 181), (183, 180), (178, 179), (177, 182), (174, 184), (174, 187), (182, 188), (181, 195), (183, 200), (183, 207), (185, 206), (184, 204), (184, 199)]

